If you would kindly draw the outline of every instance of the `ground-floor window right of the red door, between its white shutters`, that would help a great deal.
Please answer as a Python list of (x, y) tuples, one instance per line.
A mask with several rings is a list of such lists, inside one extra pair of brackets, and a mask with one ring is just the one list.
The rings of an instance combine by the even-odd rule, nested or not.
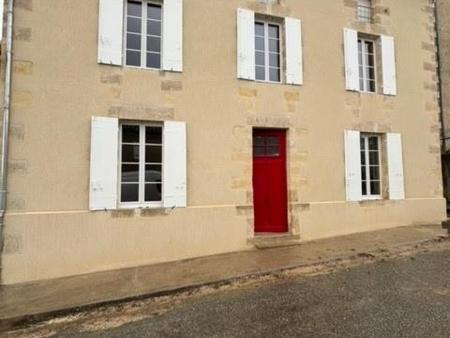
[(361, 188), (365, 199), (381, 198), (380, 137), (361, 134)]

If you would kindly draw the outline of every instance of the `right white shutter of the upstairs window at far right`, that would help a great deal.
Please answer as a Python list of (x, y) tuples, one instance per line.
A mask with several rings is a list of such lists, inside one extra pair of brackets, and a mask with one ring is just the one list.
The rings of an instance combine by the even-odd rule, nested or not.
[(386, 95), (397, 95), (395, 44), (392, 36), (381, 36), (381, 59), (383, 68), (383, 93)]

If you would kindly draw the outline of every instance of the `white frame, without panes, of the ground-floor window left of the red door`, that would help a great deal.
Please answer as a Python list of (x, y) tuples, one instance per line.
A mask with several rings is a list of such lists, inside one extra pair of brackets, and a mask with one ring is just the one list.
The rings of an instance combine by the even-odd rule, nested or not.
[[(139, 126), (139, 201), (138, 202), (122, 202), (122, 126)], [(145, 142), (145, 128), (159, 127), (161, 128), (161, 201), (145, 202), (145, 146), (152, 145)], [(160, 123), (139, 123), (120, 121), (119, 123), (119, 161), (118, 161), (118, 205), (121, 209), (137, 209), (137, 208), (162, 208), (164, 204), (164, 125)]]

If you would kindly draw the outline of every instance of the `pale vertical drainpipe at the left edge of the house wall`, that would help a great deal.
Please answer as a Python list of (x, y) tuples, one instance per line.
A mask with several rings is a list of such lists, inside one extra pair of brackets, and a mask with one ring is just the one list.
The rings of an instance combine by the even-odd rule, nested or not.
[[(3, 1), (3, 0), (0, 0)], [(12, 43), (13, 43), (13, 22), (14, 22), (14, 0), (8, 1), (6, 9), (6, 68), (5, 68), (5, 92), (3, 98), (3, 134), (2, 134), (2, 154), (0, 162), (0, 254), (3, 252), (3, 226), (5, 223), (6, 211), (6, 190), (7, 190), (7, 162), (8, 162), (8, 141), (9, 141), (9, 114), (11, 110), (11, 78), (12, 78)], [(3, 15), (3, 13), (2, 13)], [(0, 277), (1, 277), (1, 255), (0, 255)]]

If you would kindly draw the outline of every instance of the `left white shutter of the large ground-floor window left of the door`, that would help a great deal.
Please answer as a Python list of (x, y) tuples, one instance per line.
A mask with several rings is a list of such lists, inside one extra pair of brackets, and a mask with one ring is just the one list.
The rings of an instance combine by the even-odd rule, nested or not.
[(117, 208), (118, 135), (118, 119), (92, 118), (90, 210)]

